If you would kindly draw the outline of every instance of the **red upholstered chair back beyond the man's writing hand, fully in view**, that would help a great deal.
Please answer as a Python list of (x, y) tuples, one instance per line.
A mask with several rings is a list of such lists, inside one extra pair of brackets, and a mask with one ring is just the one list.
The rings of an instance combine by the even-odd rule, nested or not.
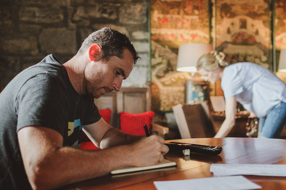
[(150, 131), (155, 113), (153, 111), (147, 111), (140, 114), (120, 112), (119, 115), (120, 129), (123, 132), (133, 135), (145, 135), (143, 125), (146, 124)]

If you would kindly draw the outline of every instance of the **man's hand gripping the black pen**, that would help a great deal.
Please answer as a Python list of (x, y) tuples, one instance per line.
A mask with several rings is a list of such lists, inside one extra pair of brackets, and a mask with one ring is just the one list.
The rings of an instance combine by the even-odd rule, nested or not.
[(163, 161), (164, 155), (169, 151), (164, 142), (162, 137), (151, 135), (131, 144), (131, 150), (134, 153), (132, 165), (147, 166)]

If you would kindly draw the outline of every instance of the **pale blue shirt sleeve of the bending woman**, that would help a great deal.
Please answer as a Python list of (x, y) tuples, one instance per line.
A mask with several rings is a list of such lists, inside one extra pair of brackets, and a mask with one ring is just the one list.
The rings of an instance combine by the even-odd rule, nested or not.
[(240, 70), (237, 66), (227, 66), (224, 68), (221, 89), (223, 90), (225, 99), (243, 92)]

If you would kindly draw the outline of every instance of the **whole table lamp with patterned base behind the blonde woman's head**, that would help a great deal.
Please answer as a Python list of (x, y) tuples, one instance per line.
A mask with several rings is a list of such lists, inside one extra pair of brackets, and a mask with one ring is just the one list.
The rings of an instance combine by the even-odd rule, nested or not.
[(208, 83), (197, 72), (199, 58), (213, 50), (212, 44), (189, 43), (179, 46), (177, 71), (190, 72), (190, 80), (185, 82), (185, 104), (199, 103), (207, 100)]

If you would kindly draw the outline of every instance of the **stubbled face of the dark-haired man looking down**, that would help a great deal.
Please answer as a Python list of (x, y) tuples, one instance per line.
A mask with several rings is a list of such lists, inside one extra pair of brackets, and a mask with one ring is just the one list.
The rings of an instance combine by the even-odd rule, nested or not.
[(108, 61), (91, 62), (85, 69), (86, 94), (99, 98), (112, 91), (119, 91), (134, 66), (129, 50), (124, 50), (123, 58), (112, 56)]

